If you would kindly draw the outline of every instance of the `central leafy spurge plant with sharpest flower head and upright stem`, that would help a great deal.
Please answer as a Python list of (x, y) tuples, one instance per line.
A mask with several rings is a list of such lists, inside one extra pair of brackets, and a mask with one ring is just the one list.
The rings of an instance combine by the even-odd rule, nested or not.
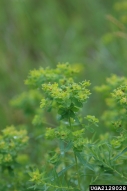
[[(59, 122), (60, 125), (56, 128), (48, 127), (45, 132), (45, 137), (47, 139), (56, 139), (60, 145), (59, 153), (54, 152), (53, 155), (50, 155), (51, 157), (48, 161), (54, 165), (52, 168), (52, 173), (55, 171), (56, 174), (59, 173), (61, 176), (63, 175), (62, 177), (58, 177), (59, 179), (63, 179), (62, 181), (64, 183), (63, 186), (61, 184), (61, 186), (58, 187), (57, 184), (54, 185), (56, 178), (50, 178), (50, 180), (53, 179), (53, 182), (49, 184), (49, 180), (47, 179), (47, 181), (42, 184), (44, 187), (49, 187), (50, 185), (51, 188), (58, 187), (59, 189), (70, 189), (67, 186), (69, 183), (70, 185), (74, 184), (77, 187), (77, 190), (81, 189), (76, 153), (82, 152), (84, 145), (88, 142), (88, 140), (84, 138), (84, 127), (79, 128), (80, 120), (77, 113), (80, 111), (80, 108), (83, 107), (83, 103), (86, 102), (90, 95), (90, 91), (87, 89), (90, 83), (89, 81), (76, 83), (72, 78), (72, 75), (74, 75), (76, 71), (76, 69), (72, 69), (72, 67), (70, 67), (67, 63), (61, 65), (59, 64), (54, 70), (43, 70), (43, 74), (42, 69), (40, 69), (40, 73), (36, 72), (37, 78), (34, 80), (34, 87), (38, 87), (38, 89), (41, 90), (42, 86), (41, 91), (43, 98), (41, 100), (40, 108), (46, 109), (47, 111), (55, 109), (57, 112), (57, 119), (61, 121)], [(51, 76), (53, 74), (53, 76), (50, 76), (49, 78), (48, 73), (50, 73)], [(27, 84), (32, 85), (32, 80), (30, 81), (30, 79), (33, 78), (33, 75), (35, 79), (35, 73), (30, 73), (30, 76), (26, 81)], [(41, 86), (39, 86), (40, 81)], [(89, 119), (90, 118), (96, 123), (95, 118), (89, 116)], [(73, 156), (73, 163), (68, 158), (68, 152), (71, 152), (71, 155)], [(65, 159), (66, 155), (67, 159)], [(70, 165), (73, 167), (71, 170), (72, 172), (70, 172), (74, 178), (69, 178), (69, 180), (66, 169), (68, 169), (68, 166)], [(74, 170), (74, 166), (76, 166), (76, 172)], [(66, 172), (66, 180), (64, 180), (64, 172)], [(52, 173), (50, 175), (51, 177)], [(75, 173), (77, 173), (77, 180)], [(77, 183), (71, 183), (71, 181), (77, 181)], [(34, 188), (35, 187), (36, 183), (34, 185)], [(71, 189), (73, 189), (73, 186), (71, 186)]]

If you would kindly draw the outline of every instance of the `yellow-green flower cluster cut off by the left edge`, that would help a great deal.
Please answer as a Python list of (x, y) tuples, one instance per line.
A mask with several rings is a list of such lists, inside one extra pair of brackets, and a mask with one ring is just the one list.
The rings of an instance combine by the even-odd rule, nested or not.
[(0, 136), (0, 164), (8, 165), (16, 160), (19, 150), (28, 142), (26, 130), (17, 131), (14, 126), (7, 127)]

